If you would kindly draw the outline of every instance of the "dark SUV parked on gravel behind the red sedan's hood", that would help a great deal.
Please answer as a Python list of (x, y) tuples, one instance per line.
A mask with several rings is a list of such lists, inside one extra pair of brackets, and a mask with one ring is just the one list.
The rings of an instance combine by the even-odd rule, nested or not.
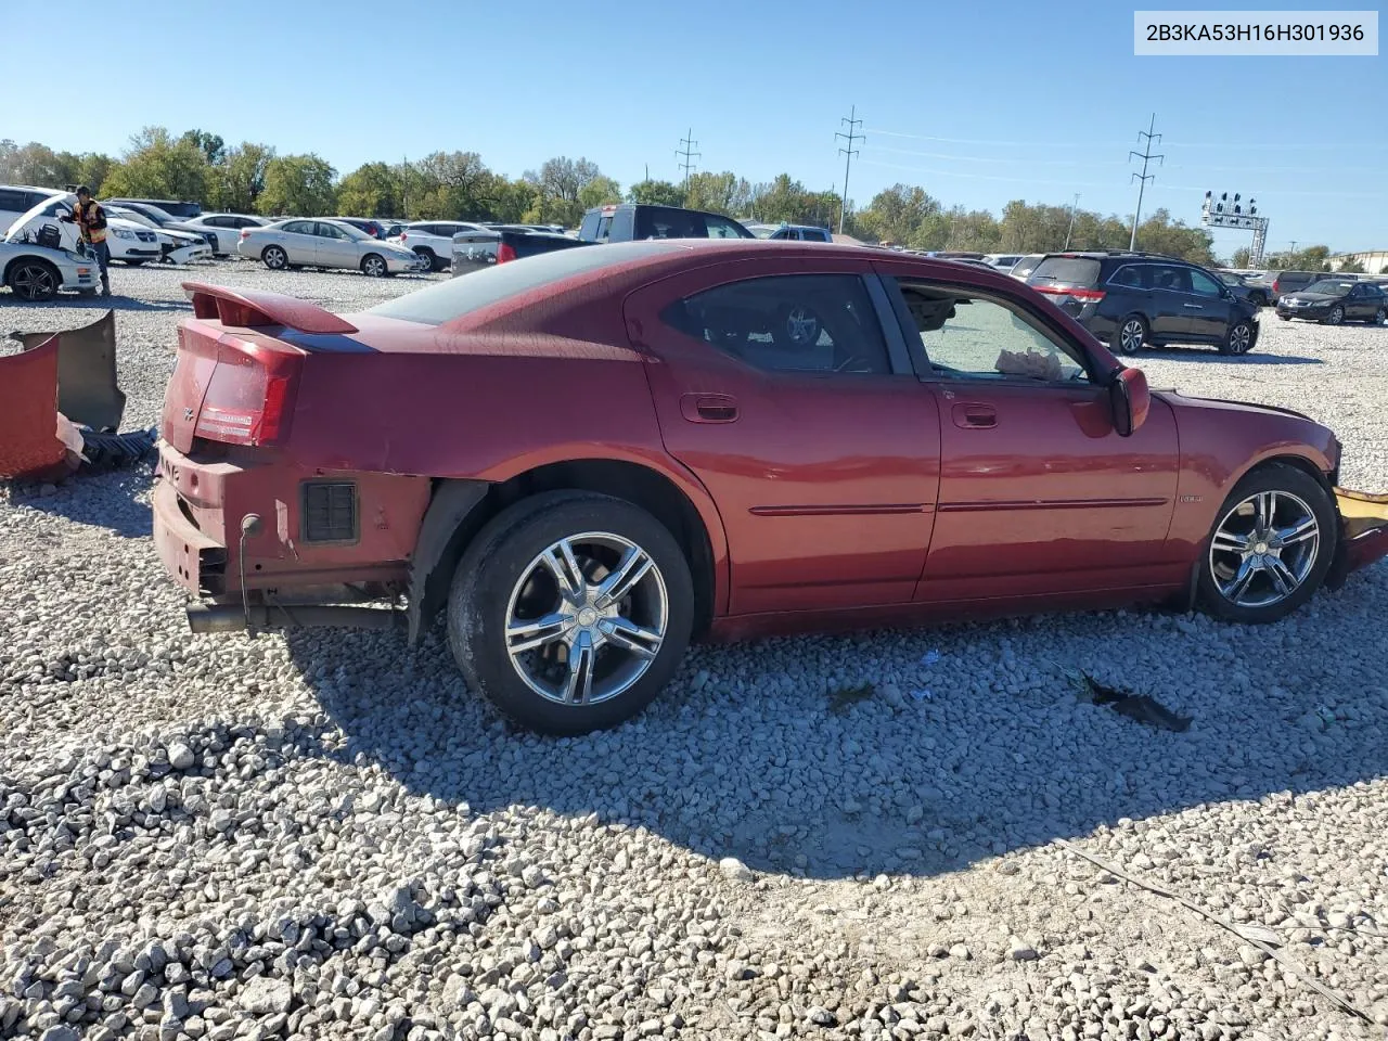
[(1201, 343), (1246, 354), (1258, 343), (1258, 308), (1216, 275), (1153, 253), (1051, 253), (1027, 285), (1047, 294), (1115, 354)]

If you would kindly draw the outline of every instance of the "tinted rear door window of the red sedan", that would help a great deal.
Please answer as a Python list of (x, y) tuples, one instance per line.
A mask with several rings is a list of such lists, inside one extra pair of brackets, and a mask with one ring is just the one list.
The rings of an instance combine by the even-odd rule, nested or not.
[(891, 373), (877, 315), (855, 275), (731, 282), (676, 300), (661, 318), (759, 369)]

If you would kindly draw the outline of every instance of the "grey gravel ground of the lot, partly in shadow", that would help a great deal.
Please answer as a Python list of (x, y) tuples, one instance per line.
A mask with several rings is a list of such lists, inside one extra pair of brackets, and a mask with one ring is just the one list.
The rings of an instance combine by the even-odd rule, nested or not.
[[(126, 426), (185, 278), (336, 310), (423, 280), (117, 269)], [(6, 330), (99, 314), (0, 296)], [(1253, 355), (1145, 368), (1328, 421), (1388, 491), (1388, 329), (1267, 316)], [(640, 720), (539, 740), (439, 633), (189, 634), (149, 480), (0, 497), (0, 1037), (1384, 1035), (1385, 566), (1256, 630), (701, 647)]]

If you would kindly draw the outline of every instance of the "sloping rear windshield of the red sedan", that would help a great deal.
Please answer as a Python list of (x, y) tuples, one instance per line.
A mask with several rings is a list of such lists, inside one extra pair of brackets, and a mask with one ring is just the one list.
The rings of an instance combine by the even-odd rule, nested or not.
[(677, 248), (680, 247), (676, 244), (633, 243), (620, 248), (616, 246), (580, 246), (572, 250), (543, 253), (537, 257), (497, 264), (447, 282), (439, 282), (378, 304), (366, 314), (419, 322), (421, 325), (443, 325), (547, 282), (559, 282), (609, 264), (626, 264), (641, 257), (673, 253)]

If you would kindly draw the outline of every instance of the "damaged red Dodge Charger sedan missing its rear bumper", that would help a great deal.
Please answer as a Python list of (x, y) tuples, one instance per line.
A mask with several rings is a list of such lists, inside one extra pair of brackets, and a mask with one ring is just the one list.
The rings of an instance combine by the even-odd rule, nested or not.
[(548, 733), (637, 713), (695, 637), (1274, 622), (1388, 552), (1330, 430), (1149, 393), (976, 265), (641, 242), (346, 316), (187, 290), (154, 505), (193, 629), (443, 611), (469, 687)]

